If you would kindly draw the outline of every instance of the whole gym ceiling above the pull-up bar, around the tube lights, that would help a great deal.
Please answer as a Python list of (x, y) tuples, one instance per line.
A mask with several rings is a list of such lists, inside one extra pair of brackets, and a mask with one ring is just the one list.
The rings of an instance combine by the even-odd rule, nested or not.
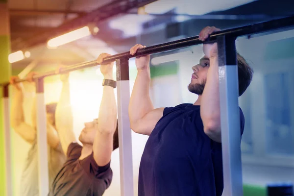
[[(123, 52), (135, 43), (150, 46), (197, 35), (206, 25), (231, 28), (294, 14), (294, 1), (279, 0), (8, 0), (12, 51), (31, 57), (13, 63), (49, 66), (93, 60), (100, 52)], [(153, 2), (153, 3), (152, 3)], [(150, 4), (149, 4), (150, 3)], [(146, 5), (146, 6), (144, 6)], [(144, 7), (142, 7), (144, 6)], [(140, 9), (138, 9), (141, 7)], [(180, 24), (179, 35), (167, 36)], [(97, 35), (47, 49), (46, 42), (85, 25)], [(174, 34), (174, 32), (172, 32)]]

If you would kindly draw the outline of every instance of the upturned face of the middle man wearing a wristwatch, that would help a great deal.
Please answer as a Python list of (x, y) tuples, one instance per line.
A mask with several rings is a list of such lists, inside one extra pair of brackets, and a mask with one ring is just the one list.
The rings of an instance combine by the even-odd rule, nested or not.
[(78, 137), (79, 141), (82, 144), (93, 145), (97, 129), (98, 129), (97, 120), (94, 120), (89, 123), (85, 123), (85, 127), (83, 128), (82, 132), (80, 133)]

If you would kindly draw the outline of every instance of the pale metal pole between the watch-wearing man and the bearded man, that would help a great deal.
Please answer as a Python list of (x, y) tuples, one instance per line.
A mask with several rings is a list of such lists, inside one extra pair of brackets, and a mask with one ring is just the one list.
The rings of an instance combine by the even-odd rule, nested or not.
[(128, 116), (130, 101), (129, 65), (128, 59), (117, 59), (117, 92), (119, 116), (119, 147), (121, 196), (134, 196), (133, 188), (133, 158), (132, 133)]

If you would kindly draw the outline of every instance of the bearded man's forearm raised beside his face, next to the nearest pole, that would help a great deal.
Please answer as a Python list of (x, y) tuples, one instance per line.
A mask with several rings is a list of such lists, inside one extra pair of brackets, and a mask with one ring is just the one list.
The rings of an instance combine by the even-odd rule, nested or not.
[(220, 127), (218, 57), (210, 59), (210, 67), (207, 72), (207, 80), (201, 98), (200, 115), (204, 125), (204, 131), (218, 129)]

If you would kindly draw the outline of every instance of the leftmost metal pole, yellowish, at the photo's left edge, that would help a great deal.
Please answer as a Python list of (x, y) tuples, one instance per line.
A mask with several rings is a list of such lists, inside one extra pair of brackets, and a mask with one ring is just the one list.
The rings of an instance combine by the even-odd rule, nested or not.
[(3, 86), (3, 115), (4, 115), (4, 143), (5, 143), (5, 167), (6, 167), (6, 196), (12, 195), (11, 178), (11, 148), (10, 148), (10, 116), (9, 116), (9, 89)]

